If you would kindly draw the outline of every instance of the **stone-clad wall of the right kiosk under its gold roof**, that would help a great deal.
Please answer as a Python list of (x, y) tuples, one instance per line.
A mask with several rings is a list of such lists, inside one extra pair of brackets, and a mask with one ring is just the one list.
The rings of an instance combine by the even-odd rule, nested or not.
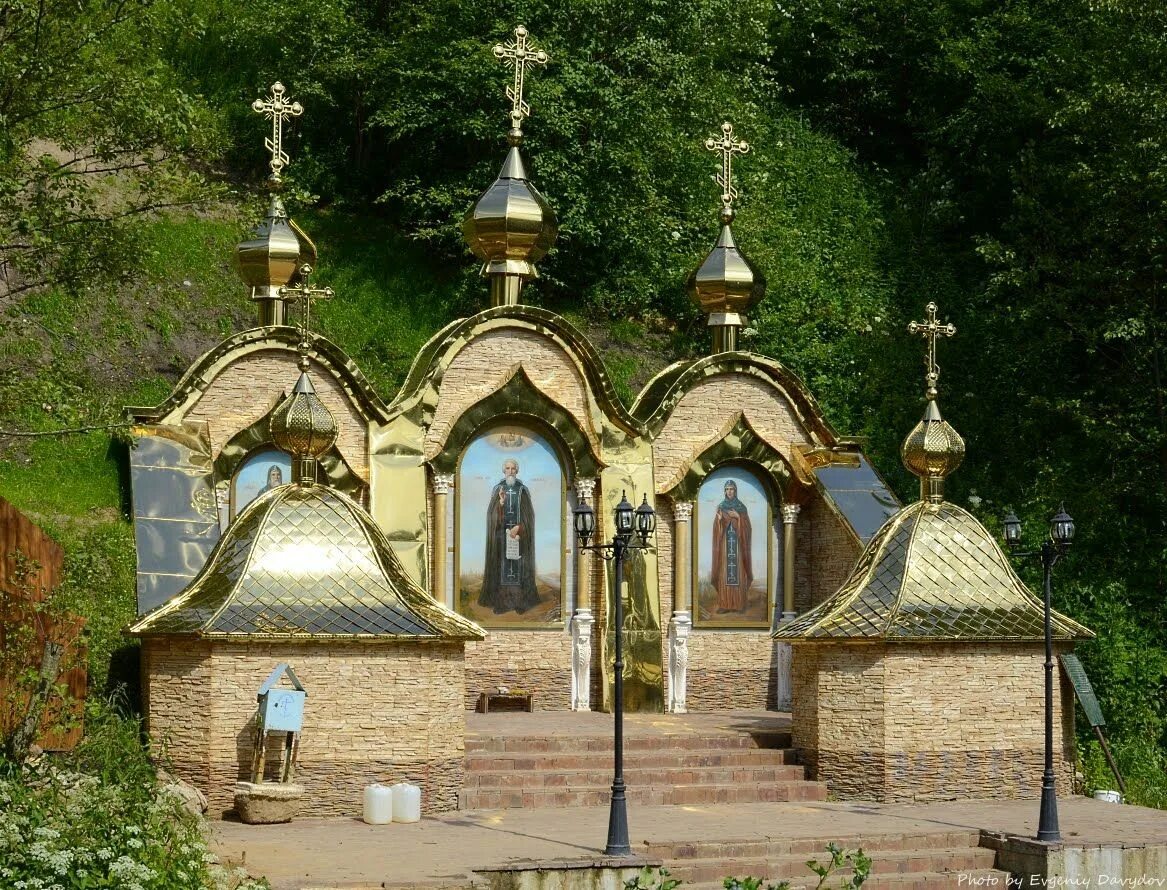
[[(794, 744), (844, 798), (1032, 798), (1044, 761), (1041, 643), (795, 644)], [(1074, 770), (1057, 673), (1058, 793)]]

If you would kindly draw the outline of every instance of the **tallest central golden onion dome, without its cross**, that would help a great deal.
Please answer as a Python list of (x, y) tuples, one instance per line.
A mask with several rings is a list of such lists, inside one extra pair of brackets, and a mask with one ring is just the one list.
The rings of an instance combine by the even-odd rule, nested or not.
[(538, 278), (534, 264), (559, 232), (555, 211), (526, 178), (517, 141), (512, 135), (498, 178), (462, 220), (462, 234), (483, 261), (484, 276)]

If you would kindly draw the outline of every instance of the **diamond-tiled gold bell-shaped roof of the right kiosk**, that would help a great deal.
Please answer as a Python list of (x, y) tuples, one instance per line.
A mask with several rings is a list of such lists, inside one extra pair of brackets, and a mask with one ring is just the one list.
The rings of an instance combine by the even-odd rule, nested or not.
[[(1051, 614), (1058, 639), (1092, 637)], [(868, 542), (830, 600), (783, 624), (775, 639), (1037, 640), (1042, 603), (1016, 576), (976, 517), (943, 502), (916, 502)]]

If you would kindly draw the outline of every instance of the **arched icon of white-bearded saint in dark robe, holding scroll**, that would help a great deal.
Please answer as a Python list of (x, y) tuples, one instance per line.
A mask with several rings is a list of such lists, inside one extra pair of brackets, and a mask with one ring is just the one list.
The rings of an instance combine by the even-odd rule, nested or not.
[(467, 447), (457, 498), (457, 610), (487, 628), (564, 622), (565, 483), (538, 433), (496, 426)]

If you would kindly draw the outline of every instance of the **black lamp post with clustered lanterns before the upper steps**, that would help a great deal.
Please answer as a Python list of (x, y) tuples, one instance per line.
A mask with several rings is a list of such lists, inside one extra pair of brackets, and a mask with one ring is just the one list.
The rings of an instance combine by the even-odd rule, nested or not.
[[(656, 512), (649, 504), (648, 495), (633, 510), (628, 496), (621, 492), (615, 519), (616, 531), (612, 542), (589, 546), (588, 541), (595, 534), (595, 511), (582, 498), (575, 507), (575, 534), (580, 539), (580, 548), (596, 551), (603, 559), (616, 563), (616, 590), (613, 596), (616, 605), (615, 776), (612, 780), (612, 810), (608, 813), (608, 845), (603, 852), (608, 856), (629, 856), (633, 848), (628, 842), (628, 801), (624, 797), (624, 558), (630, 549), (648, 548), (649, 538), (656, 531)], [(634, 533), (636, 540), (633, 538)]]

